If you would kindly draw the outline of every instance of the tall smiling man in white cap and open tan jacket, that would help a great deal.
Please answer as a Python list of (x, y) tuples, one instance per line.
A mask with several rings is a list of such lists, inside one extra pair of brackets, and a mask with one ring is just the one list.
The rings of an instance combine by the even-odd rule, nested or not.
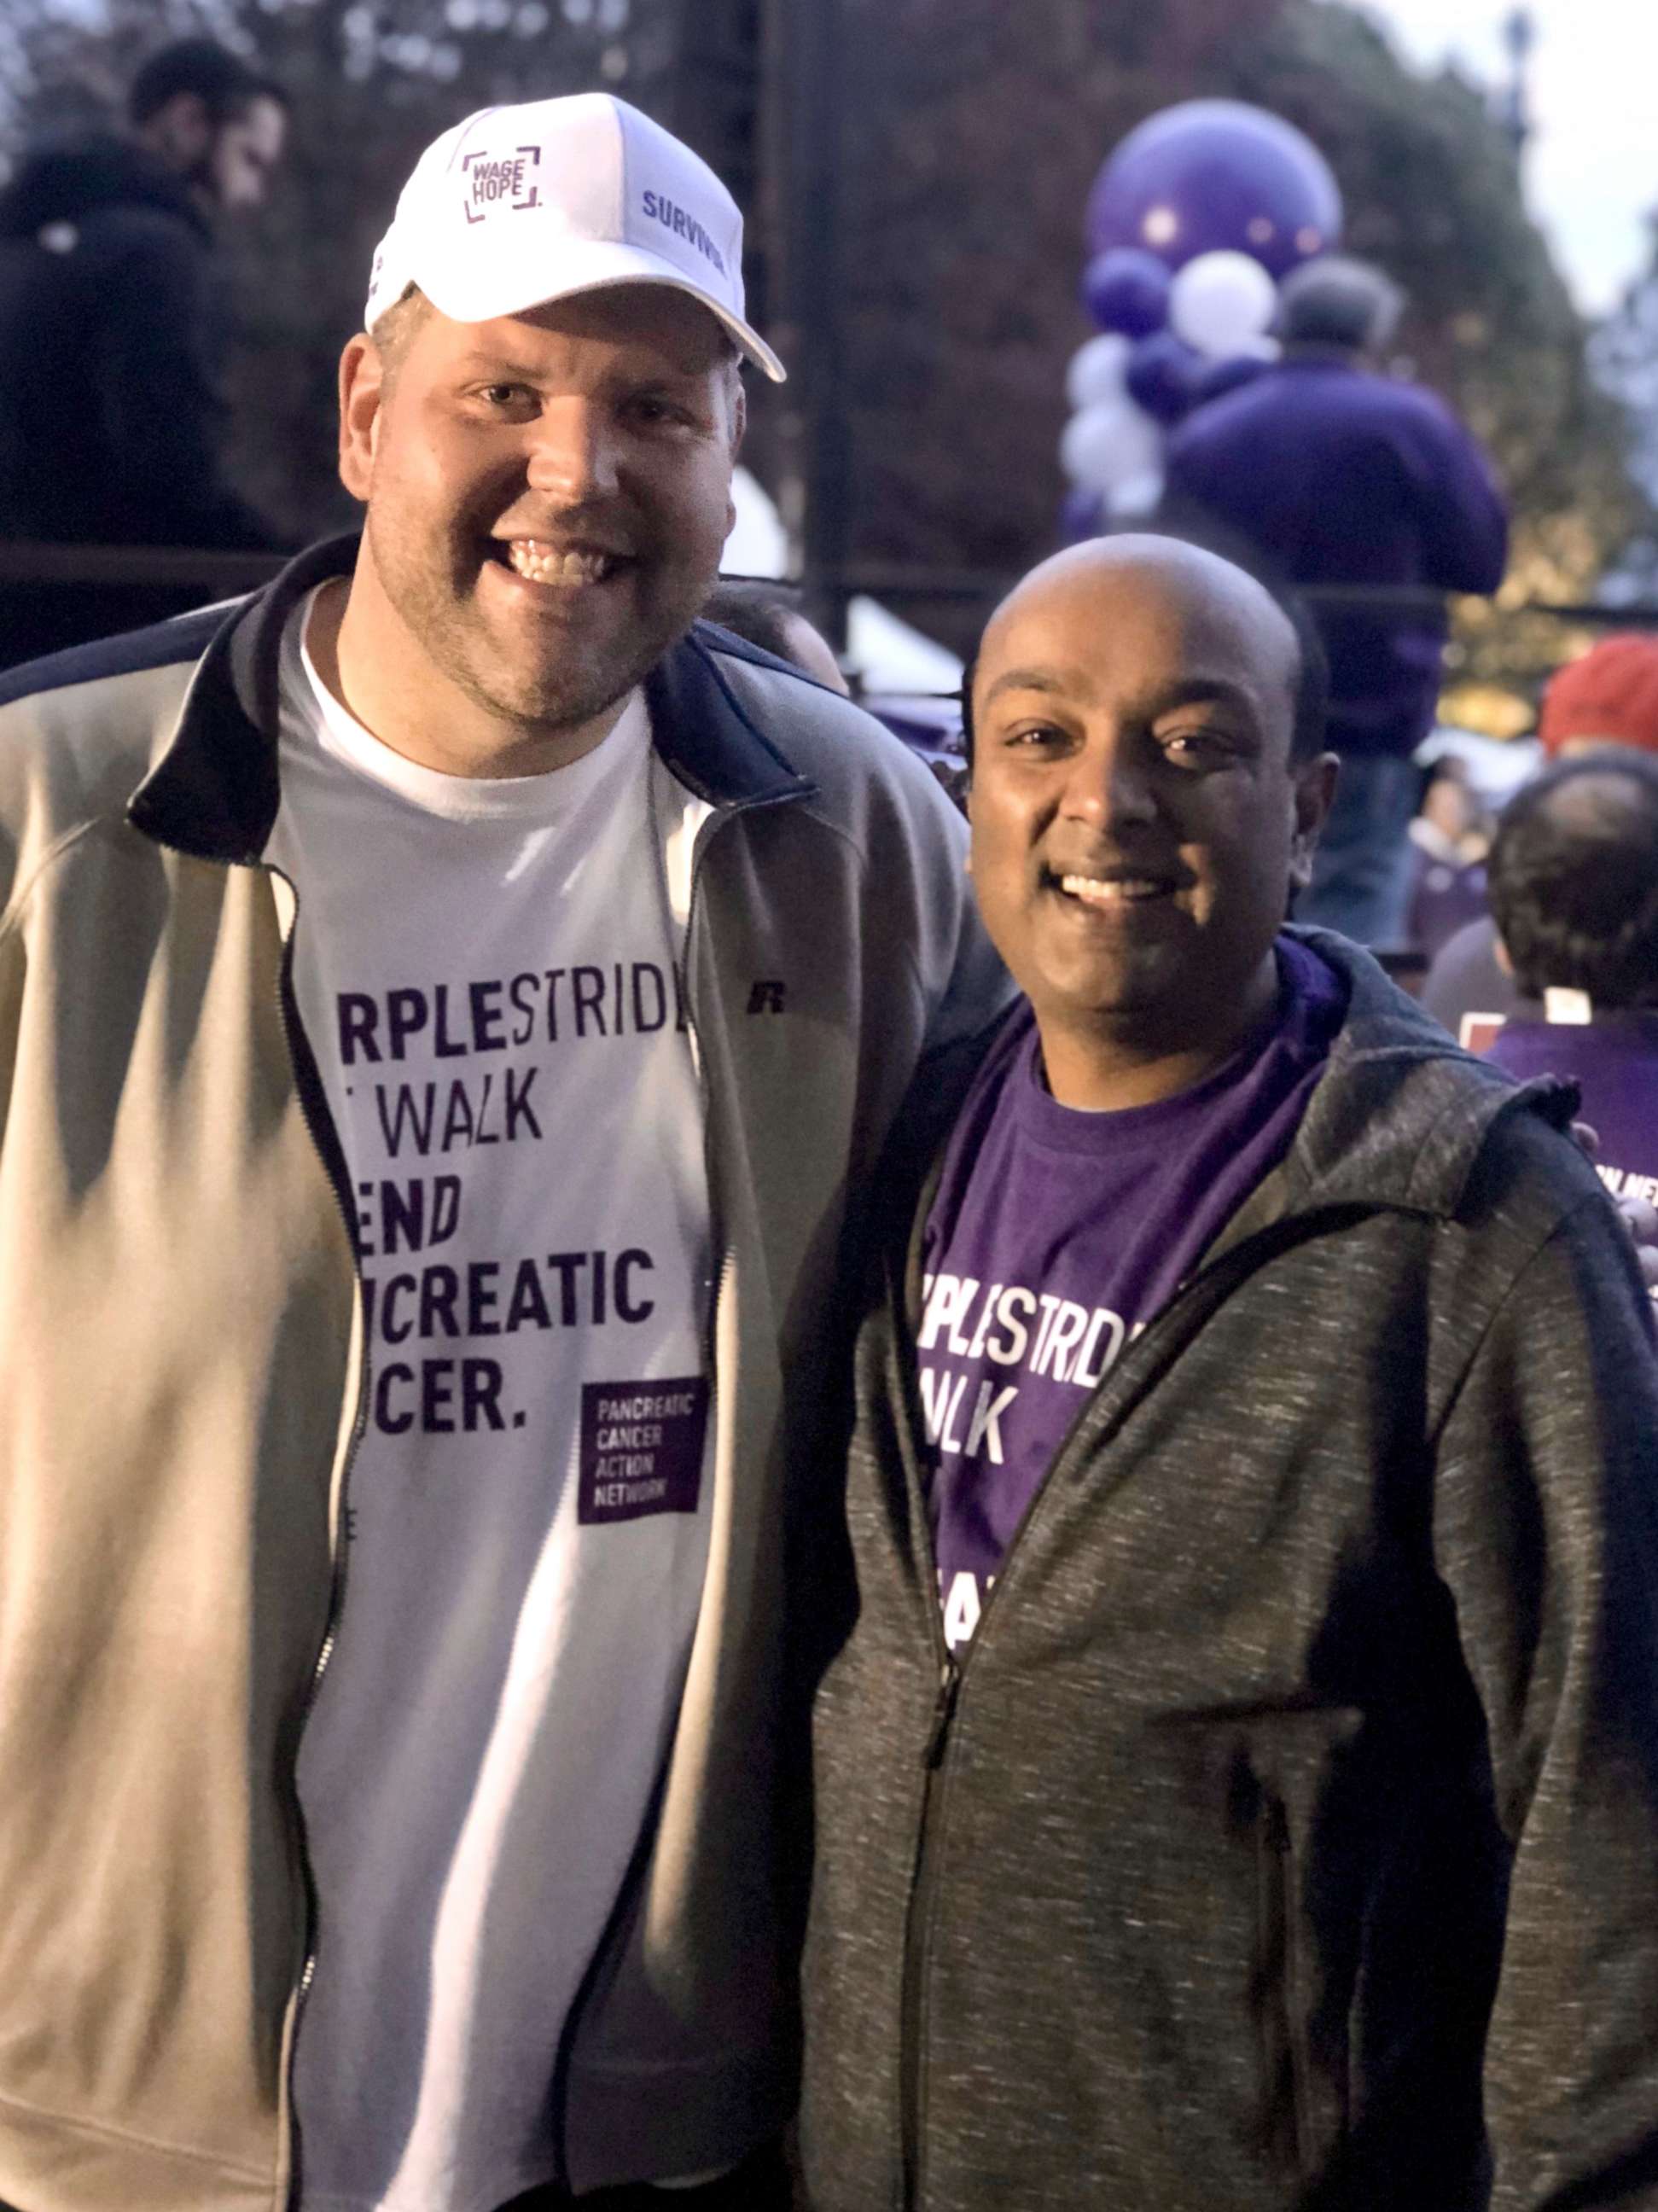
[(688, 148), (473, 115), (360, 542), (0, 688), (0, 2203), (783, 2201), (789, 1506), (1006, 984), (926, 772), (694, 622), (741, 358)]

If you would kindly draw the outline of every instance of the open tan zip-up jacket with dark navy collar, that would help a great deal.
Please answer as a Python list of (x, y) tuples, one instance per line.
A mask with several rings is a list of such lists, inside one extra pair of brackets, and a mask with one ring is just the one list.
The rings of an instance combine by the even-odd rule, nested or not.
[[(312, 1944), (294, 1756), (365, 1391), (343, 1159), (261, 865), (276, 646), (349, 566), (0, 684), (0, 2203), (279, 2212)], [(681, 1723), (566, 2031), (573, 2188), (741, 2157), (794, 2095), (785, 1506), (849, 1197), (995, 1018), (959, 823), (831, 692), (699, 626), (648, 684), (707, 801), (716, 1495)], [(396, 1849), (387, 1838), (387, 1849)], [(608, 2053), (626, 2053), (608, 2062)]]

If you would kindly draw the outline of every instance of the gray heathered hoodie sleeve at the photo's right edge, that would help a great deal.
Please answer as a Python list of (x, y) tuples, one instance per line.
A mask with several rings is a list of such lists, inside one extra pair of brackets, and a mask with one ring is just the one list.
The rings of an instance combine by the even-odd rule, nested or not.
[(1658, 1358), (1614, 1210), (1521, 1270), (1441, 1431), (1435, 1546), (1512, 1849), (1492, 2212), (1658, 2208)]

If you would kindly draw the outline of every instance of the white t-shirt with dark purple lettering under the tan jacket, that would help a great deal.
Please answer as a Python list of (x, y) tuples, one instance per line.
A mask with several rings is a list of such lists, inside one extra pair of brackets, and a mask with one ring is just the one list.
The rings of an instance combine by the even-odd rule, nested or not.
[(356, 1194), (369, 1422), (298, 1759), (303, 2205), (491, 2212), (553, 2174), (707, 1557), (685, 794), (639, 697), (553, 774), (418, 768), (318, 681), (307, 617), (265, 858)]

